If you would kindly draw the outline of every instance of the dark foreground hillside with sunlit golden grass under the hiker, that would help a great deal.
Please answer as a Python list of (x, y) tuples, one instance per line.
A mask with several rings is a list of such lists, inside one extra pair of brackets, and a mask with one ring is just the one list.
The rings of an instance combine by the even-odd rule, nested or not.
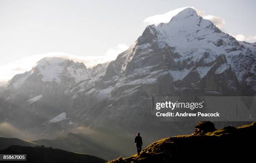
[(156, 141), (141, 155), (118, 158), (109, 163), (183, 163), (255, 160), (256, 123), (238, 128), (233, 126), (216, 130), (205, 121), (195, 127), (191, 135), (179, 135)]

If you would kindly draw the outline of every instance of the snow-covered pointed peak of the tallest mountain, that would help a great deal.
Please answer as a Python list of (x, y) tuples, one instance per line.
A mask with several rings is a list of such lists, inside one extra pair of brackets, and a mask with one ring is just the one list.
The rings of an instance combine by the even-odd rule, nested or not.
[(182, 49), (191, 44), (195, 47), (202, 46), (202, 42), (216, 42), (224, 35), (210, 20), (203, 19), (192, 8), (181, 11), (169, 23), (161, 23), (155, 28), (159, 41), (165, 42), (161, 46), (167, 43)]

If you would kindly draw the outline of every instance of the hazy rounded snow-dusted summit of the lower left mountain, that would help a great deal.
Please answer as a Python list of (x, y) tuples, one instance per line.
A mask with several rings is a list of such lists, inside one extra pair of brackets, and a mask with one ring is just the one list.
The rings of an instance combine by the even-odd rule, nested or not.
[[(71, 83), (79, 83), (80, 81), (90, 80), (90, 74), (84, 63), (74, 63), (72, 60), (58, 58), (58, 57), (45, 57), (39, 60), (32, 70), (24, 73), (23, 75), (16, 75), (13, 80), (8, 82), (7, 88), (14, 86), (18, 88), (23, 85), (29, 78), (34, 81), (41, 82), (63, 82), (63, 78), (69, 78)], [(40, 79), (40, 80), (39, 80)], [(32, 82), (32, 81), (31, 81)]]

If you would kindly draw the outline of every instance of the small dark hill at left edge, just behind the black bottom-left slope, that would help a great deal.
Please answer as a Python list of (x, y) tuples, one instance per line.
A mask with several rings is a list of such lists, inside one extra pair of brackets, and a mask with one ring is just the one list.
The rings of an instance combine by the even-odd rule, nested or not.
[(1, 144), (0, 150), (4, 150), (11, 145), (20, 145), (20, 146), (37, 145), (36, 143), (33, 143), (31, 141), (24, 141), (24, 140), (20, 140), (18, 138), (2, 138), (2, 137), (0, 137), (0, 144)]

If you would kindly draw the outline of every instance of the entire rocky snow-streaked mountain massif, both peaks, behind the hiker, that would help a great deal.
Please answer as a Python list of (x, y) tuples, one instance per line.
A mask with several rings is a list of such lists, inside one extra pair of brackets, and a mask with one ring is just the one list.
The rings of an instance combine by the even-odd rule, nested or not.
[[(5, 85), (0, 119), (33, 130), (58, 125), (61, 132), (79, 126), (161, 136), (189, 132), (182, 123), (155, 121), (151, 96), (255, 95), (255, 61), (255, 43), (237, 41), (187, 8), (169, 23), (146, 27), (109, 64), (87, 69), (43, 58)], [(160, 132), (166, 126), (172, 130)]]

